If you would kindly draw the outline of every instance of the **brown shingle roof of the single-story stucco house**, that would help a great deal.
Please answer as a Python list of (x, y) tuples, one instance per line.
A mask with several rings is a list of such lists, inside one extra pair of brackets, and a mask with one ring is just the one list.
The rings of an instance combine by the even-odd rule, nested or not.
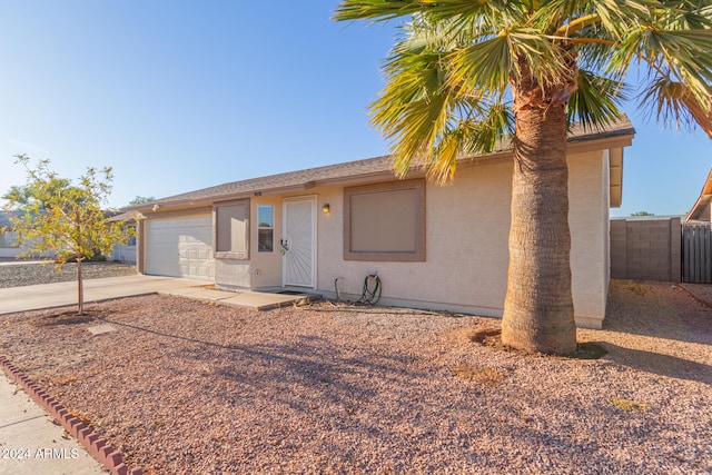
[[(586, 130), (584, 127), (575, 125), (570, 132), (570, 142), (582, 142), (590, 140), (600, 140), (616, 136), (632, 136), (635, 132), (633, 125), (627, 117), (622, 116), (621, 119), (605, 127), (602, 130)], [(511, 149), (511, 144), (503, 142), (496, 150), (490, 155), (497, 155)], [(475, 157), (466, 157), (473, 159)], [(255, 196), (256, 194), (276, 194), (288, 190), (308, 189), (320, 184), (327, 184), (335, 180), (348, 180), (356, 178), (367, 178), (369, 176), (383, 176), (392, 174), (389, 156), (368, 158), (365, 160), (347, 161), (343, 164), (327, 165), (324, 167), (309, 168), (305, 170), (288, 171), (285, 174), (271, 175), (260, 178), (250, 178), (241, 181), (233, 181), (209, 188), (189, 191), (167, 198), (157, 199), (155, 201), (145, 202), (142, 205), (123, 208), (123, 210), (138, 210), (159, 206), (185, 206), (201, 205), (227, 199), (236, 199), (240, 197)]]

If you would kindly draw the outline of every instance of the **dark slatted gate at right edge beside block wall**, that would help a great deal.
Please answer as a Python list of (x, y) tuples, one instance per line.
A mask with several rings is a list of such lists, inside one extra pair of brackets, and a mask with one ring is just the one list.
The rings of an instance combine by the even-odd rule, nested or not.
[(682, 281), (712, 284), (712, 232), (709, 224), (682, 227)]

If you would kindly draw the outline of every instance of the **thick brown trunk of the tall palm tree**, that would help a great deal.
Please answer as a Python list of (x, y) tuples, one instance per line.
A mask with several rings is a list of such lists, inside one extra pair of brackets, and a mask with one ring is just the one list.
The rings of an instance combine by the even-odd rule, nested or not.
[(532, 91), (515, 91), (510, 269), (502, 342), (526, 352), (566, 354), (576, 348), (566, 116), (561, 105), (532, 105)]

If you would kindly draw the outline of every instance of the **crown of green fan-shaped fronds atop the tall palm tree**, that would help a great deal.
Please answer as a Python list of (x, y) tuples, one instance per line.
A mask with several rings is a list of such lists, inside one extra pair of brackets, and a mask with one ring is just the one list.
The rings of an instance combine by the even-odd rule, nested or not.
[(458, 157), (496, 148), (514, 131), (512, 85), (541, 88), (540, 107), (568, 98), (570, 123), (605, 126), (633, 65), (651, 71), (641, 99), (654, 116), (712, 138), (709, 0), (343, 0), (335, 18), (399, 17), (370, 113), (402, 176), (422, 166), (448, 181)]

